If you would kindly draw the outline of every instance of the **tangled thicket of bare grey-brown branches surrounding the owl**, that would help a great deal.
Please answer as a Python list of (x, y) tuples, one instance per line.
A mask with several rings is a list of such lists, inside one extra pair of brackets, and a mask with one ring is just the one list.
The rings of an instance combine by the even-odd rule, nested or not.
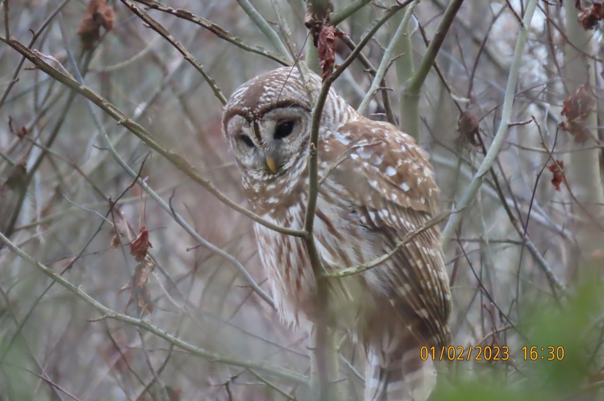
[(602, 398), (602, 19), (579, 0), (3, 0), (0, 400), (331, 380), (361, 399), (346, 333), (323, 349), (278, 321), (220, 133), (237, 86), (302, 62), (431, 155), (464, 359), (433, 399)]

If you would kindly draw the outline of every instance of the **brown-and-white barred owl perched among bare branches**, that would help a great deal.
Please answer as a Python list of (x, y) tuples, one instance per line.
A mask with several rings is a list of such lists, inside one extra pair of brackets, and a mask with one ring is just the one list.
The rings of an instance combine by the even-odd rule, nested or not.
[[(312, 103), (321, 80), (304, 85), (297, 68), (249, 80), (225, 106), (223, 133), (242, 173), (252, 210), (263, 219), (303, 229), (309, 191)], [(437, 211), (439, 189), (428, 155), (392, 124), (359, 115), (330, 90), (318, 141), (321, 182), (315, 242), (327, 271), (373, 261)], [(283, 321), (310, 332), (319, 309), (347, 330), (367, 354), (365, 400), (428, 398), (435, 384), (420, 347), (449, 341), (451, 293), (437, 227), (387, 261), (329, 279), (327, 306), (315, 300), (304, 241), (255, 223), (260, 259)]]

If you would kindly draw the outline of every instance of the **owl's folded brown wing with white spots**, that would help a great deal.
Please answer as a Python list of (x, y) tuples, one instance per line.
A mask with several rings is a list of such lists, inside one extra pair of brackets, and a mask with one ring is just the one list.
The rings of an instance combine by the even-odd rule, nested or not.
[[(350, 147), (366, 141), (350, 153)], [(330, 175), (350, 194), (360, 223), (377, 234), (377, 253), (390, 253), (405, 234), (437, 212), (438, 187), (428, 155), (413, 138), (388, 123), (358, 120), (344, 124), (329, 140), (330, 154), (349, 152)], [(422, 342), (449, 342), (451, 293), (434, 226), (414, 237), (374, 269), (387, 296)], [(411, 316), (410, 316), (411, 315)], [(419, 322), (419, 324), (417, 324)]]

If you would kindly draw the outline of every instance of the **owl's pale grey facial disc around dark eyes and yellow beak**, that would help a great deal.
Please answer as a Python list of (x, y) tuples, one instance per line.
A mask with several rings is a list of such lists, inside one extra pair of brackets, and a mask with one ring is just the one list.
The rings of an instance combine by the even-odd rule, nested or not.
[(283, 175), (306, 154), (310, 114), (301, 107), (270, 109), (255, 120), (234, 115), (226, 123), (231, 148), (243, 171), (255, 178)]

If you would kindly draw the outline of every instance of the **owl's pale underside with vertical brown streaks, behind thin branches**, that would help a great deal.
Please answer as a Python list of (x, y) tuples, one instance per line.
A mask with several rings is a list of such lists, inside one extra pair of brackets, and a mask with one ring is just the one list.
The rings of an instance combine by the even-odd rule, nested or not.
[[(329, 186), (324, 185), (315, 211), (315, 244), (323, 266), (328, 271), (360, 265), (376, 257), (372, 239), (355, 216), (345, 199), (333, 199)], [(303, 229), (306, 196), (280, 216), (263, 217), (275, 224)], [(263, 225), (254, 224), (259, 255), (272, 286), (275, 306), (287, 324), (310, 332), (316, 319), (315, 277), (303, 239), (277, 233)], [(327, 313), (336, 326), (351, 329), (362, 316), (370, 313), (372, 301), (368, 295), (373, 286), (367, 275), (333, 278), (329, 285)], [(324, 306), (321, 306), (324, 310)], [(355, 330), (353, 330), (355, 331)]]

